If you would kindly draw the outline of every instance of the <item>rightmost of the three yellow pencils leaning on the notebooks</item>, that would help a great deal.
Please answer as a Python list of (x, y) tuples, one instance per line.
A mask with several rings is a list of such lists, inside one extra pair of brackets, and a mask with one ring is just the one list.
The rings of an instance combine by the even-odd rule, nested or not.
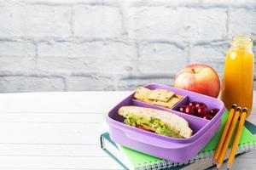
[(234, 144), (233, 144), (233, 146), (231, 148), (231, 151), (230, 151), (230, 157), (229, 157), (229, 160), (228, 160), (228, 169), (230, 169), (232, 167), (232, 164), (234, 162), (234, 159), (235, 159), (235, 156), (236, 156), (236, 149), (237, 149), (237, 146), (238, 146), (239, 139), (241, 137), (241, 130), (242, 130), (243, 124), (245, 122), (246, 116), (247, 116), (247, 108), (243, 108), (242, 112), (241, 112), (241, 116), (240, 116), (240, 122), (239, 122), (239, 125), (237, 127), (237, 131), (236, 131), (236, 137), (234, 139)]

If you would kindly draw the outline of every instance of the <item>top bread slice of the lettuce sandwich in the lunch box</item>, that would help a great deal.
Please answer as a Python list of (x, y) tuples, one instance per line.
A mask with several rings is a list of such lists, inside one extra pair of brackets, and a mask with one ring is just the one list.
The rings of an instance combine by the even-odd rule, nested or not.
[(187, 139), (192, 135), (192, 130), (183, 117), (177, 116), (167, 111), (160, 111), (151, 108), (127, 105), (119, 108), (119, 115), (135, 115), (150, 120), (151, 118), (159, 119), (164, 122), (166, 126), (172, 130), (178, 132), (183, 138)]

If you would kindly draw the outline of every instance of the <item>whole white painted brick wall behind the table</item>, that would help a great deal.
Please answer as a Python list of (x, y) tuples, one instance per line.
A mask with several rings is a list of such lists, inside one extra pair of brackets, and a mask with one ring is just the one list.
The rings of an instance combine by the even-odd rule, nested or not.
[(172, 85), (195, 62), (222, 77), (255, 16), (255, 0), (0, 0), (0, 92)]

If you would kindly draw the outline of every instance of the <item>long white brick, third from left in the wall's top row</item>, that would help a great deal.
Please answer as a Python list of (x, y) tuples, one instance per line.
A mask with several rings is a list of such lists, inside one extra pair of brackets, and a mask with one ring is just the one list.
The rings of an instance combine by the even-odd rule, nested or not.
[(131, 8), (128, 32), (138, 39), (220, 39), (226, 32), (225, 11), (223, 8)]

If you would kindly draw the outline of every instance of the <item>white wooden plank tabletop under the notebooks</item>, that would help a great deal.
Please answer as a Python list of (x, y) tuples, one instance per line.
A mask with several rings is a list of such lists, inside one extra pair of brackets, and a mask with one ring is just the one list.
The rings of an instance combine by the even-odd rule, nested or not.
[[(100, 121), (102, 112), (128, 94), (0, 94), (0, 169), (121, 169), (100, 148)], [(254, 124), (255, 113), (254, 107)], [(233, 169), (255, 167), (254, 150), (237, 158)]]

